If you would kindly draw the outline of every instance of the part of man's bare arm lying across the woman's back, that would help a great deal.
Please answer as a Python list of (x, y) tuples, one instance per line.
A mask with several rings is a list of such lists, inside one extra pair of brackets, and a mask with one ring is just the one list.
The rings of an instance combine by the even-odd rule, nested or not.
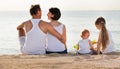
[(58, 32), (53, 28), (52, 25), (47, 24), (46, 27), (47, 27), (48, 32), (50, 32), (52, 35), (54, 35), (55, 37), (57, 37), (62, 43), (65, 43), (65, 42), (66, 42), (65, 38), (64, 38), (60, 33), (58, 33)]

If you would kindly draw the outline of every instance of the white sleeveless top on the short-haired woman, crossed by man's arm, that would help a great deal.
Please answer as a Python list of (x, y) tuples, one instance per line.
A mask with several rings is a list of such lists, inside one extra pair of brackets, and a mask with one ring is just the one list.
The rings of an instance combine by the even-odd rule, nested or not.
[[(63, 27), (64, 25), (61, 24), (59, 26), (54, 26), (54, 29), (60, 34), (63, 34)], [(47, 38), (48, 38), (47, 51), (60, 52), (65, 50), (65, 45), (61, 41), (59, 41), (55, 36), (48, 33)]]

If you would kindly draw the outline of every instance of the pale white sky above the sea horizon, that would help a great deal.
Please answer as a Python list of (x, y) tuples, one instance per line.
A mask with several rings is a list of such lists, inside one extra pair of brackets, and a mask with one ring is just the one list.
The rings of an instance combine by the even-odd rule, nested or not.
[(42, 10), (120, 10), (120, 0), (0, 0), (0, 11), (26, 11), (32, 4), (40, 4)]

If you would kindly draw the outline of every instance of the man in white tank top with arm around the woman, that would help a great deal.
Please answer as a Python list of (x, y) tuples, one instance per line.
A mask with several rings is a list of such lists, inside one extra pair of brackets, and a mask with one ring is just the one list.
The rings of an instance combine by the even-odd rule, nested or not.
[(30, 14), (32, 19), (23, 22), (17, 27), (23, 54), (45, 54), (48, 32), (57, 37), (61, 42), (65, 42), (62, 35), (52, 25), (41, 20), (41, 8), (39, 5), (32, 5)]

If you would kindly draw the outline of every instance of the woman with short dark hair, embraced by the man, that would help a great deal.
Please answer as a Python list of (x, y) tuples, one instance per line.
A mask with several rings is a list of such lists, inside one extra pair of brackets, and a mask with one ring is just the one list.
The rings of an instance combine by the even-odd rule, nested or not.
[[(58, 8), (50, 8), (47, 14), (50, 24), (59, 32), (66, 40), (66, 27), (64, 24), (60, 23), (58, 19), (61, 17), (60, 10)], [(50, 53), (67, 53), (66, 41), (64, 43), (60, 42), (52, 34), (48, 33), (48, 46), (47, 54)]]

